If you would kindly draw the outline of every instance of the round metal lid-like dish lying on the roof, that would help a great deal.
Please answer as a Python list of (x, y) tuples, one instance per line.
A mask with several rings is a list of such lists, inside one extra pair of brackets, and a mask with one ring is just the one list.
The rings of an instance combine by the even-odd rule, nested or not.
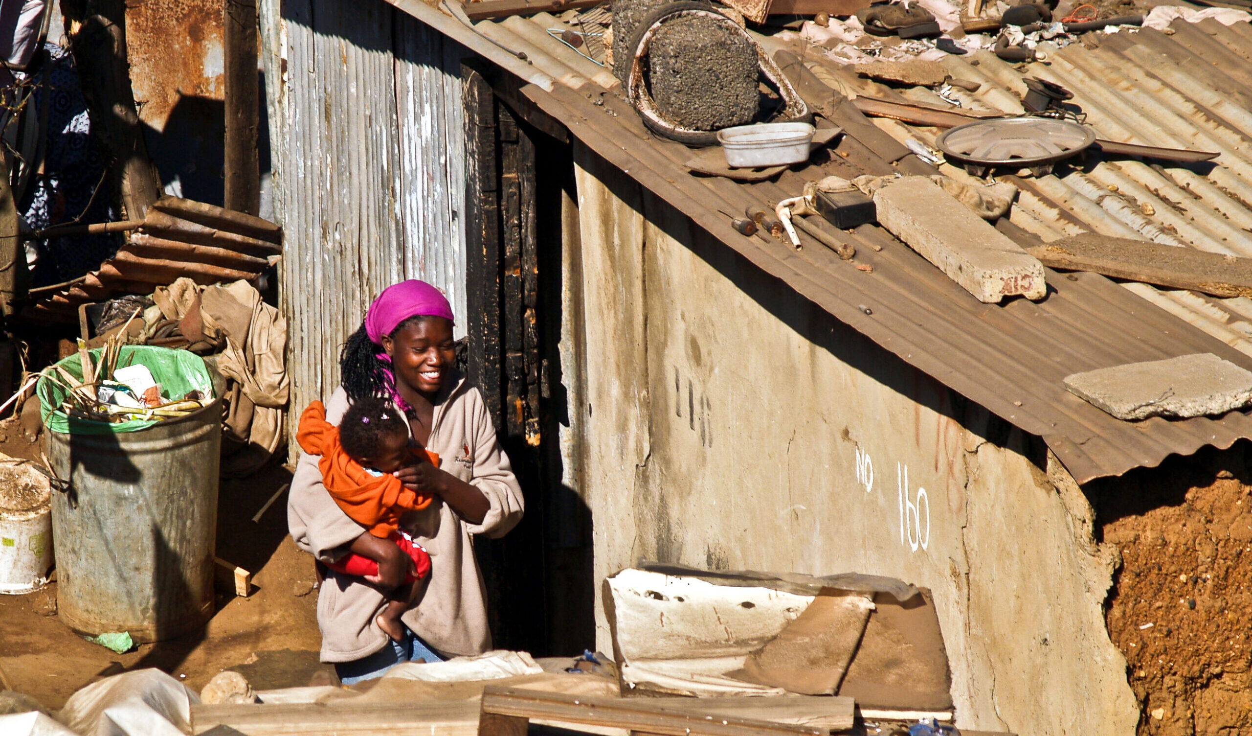
[(1035, 175), (1052, 171), (1055, 161), (1082, 153), (1096, 143), (1096, 131), (1085, 125), (1055, 118), (997, 118), (959, 125), (935, 139), (949, 158), (964, 161), (965, 169), (982, 176), (993, 166), (1032, 169)]

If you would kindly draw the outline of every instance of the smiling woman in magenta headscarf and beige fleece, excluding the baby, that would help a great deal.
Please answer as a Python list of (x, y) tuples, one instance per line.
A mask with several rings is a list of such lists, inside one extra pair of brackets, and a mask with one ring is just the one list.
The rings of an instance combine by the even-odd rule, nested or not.
[(379, 677), (403, 661), (491, 648), (470, 536), (500, 537), (513, 528), (522, 517), (522, 493), (482, 396), (456, 371), (452, 324), (452, 309), (434, 287), (408, 280), (384, 289), (344, 344), (343, 386), (326, 407), (326, 419), (338, 424), (351, 403), (388, 401), (406, 418), (414, 451), (438, 456), (437, 463), (413, 462), (394, 472), (403, 488), (433, 498), (401, 517), (401, 532), (426, 548), (432, 567), (428, 582), (413, 586), (398, 641), (379, 628), (377, 616), (387, 591), (408, 577), (412, 557), (401, 553), (398, 542), (368, 533), (336, 504), (318, 456), (302, 453), (292, 481), (288, 522), (302, 549), (324, 566), (349, 555), (378, 563), (378, 575), (371, 577), (323, 567), (322, 660), (336, 663), (344, 683)]

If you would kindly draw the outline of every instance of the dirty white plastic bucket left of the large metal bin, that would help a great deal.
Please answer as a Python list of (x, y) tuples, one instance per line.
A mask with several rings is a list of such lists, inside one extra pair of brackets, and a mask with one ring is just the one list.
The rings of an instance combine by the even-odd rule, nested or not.
[(28, 461), (0, 454), (0, 593), (38, 591), (51, 567), (48, 478)]

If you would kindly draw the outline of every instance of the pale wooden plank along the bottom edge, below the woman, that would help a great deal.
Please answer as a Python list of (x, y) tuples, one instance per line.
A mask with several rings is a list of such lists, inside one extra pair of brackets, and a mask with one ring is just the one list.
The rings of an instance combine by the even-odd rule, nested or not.
[(396, 736), (416, 732), (475, 736), (478, 732), (478, 703), (466, 700), (192, 706), (192, 733), (205, 733), (217, 726), (230, 726), (248, 736)]

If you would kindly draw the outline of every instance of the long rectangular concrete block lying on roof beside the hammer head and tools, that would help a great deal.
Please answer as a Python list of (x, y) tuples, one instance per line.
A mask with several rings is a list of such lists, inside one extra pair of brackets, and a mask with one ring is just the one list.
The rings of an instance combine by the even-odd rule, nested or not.
[(904, 176), (874, 193), (878, 222), (979, 302), (1048, 293), (1039, 259), (925, 176)]

